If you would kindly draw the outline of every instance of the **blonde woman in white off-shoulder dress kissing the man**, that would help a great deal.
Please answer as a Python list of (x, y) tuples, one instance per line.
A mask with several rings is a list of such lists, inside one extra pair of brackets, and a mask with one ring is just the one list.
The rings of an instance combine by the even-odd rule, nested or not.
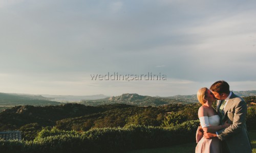
[[(214, 103), (215, 96), (206, 87), (201, 88), (197, 92), (198, 101), (202, 106), (198, 110), (198, 117), (205, 133), (215, 133), (221, 129), (225, 129), (230, 124), (225, 122), (224, 125), (220, 125), (220, 116), (217, 114), (216, 110), (211, 107)], [(206, 139), (204, 137), (198, 142), (196, 146), (196, 153), (216, 153), (221, 152), (221, 142), (215, 137), (213, 139)]]

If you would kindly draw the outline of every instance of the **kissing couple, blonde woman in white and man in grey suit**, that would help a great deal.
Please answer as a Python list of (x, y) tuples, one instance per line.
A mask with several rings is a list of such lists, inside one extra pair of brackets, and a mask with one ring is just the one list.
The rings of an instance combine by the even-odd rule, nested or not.
[[(201, 126), (196, 134), (196, 153), (251, 153), (244, 99), (230, 91), (225, 81), (215, 82), (210, 89), (199, 89), (197, 98), (202, 106), (198, 110)], [(216, 99), (217, 108), (214, 109), (212, 103)]]

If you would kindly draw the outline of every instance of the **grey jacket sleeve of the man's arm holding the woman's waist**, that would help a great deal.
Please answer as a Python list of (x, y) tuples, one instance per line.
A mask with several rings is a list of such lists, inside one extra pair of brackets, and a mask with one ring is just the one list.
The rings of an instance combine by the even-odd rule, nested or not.
[[(244, 100), (239, 101), (239, 103), (234, 108), (233, 112), (227, 112), (228, 120), (230, 119), (233, 121), (230, 126), (226, 129), (218, 131), (218, 138), (221, 140), (225, 140), (227, 137), (235, 135), (238, 132), (242, 131), (242, 126), (245, 124), (246, 114), (247, 114), (247, 105)], [(229, 114), (231, 113), (231, 114)]]

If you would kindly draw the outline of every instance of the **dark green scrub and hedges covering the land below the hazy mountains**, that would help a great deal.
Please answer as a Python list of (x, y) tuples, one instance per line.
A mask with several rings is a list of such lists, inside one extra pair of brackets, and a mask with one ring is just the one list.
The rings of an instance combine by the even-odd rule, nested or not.
[[(135, 94), (112, 97), (112, 100), (123, 100), (123, 103), (136, 99), (152, 98)], [(244, 99), (248, 104), (247, 128), (256, 130), (256, 106), (252, 104), (255, 96)], [(157, 107), (134, 104), (137, 102), (133, 105), (14, 106), (0, 112), (0, 131), (22, 131), (23, 140), (0, 140), (0, 150), (124, 152), (184, 143), (191, 143), (187, 145), (194, 150), (195, 143), (192, 142), (195, 142), (195, 131), (199, 125), (199, 103), (173, 103)], [(254, 140), (252, 143), (255, 146)]]

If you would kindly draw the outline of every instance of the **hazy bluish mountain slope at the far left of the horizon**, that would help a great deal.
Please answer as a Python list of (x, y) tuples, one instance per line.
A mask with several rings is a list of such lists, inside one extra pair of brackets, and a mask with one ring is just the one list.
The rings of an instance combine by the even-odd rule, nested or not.
[(48, 106), (60, 105), (57, 101), (52, 101), (50, 98), (41, 95), (25, 95), (16, 93), (0, 93), (0, 106), (18, 106), (18, 105), (33, 105), (33, 106)]

